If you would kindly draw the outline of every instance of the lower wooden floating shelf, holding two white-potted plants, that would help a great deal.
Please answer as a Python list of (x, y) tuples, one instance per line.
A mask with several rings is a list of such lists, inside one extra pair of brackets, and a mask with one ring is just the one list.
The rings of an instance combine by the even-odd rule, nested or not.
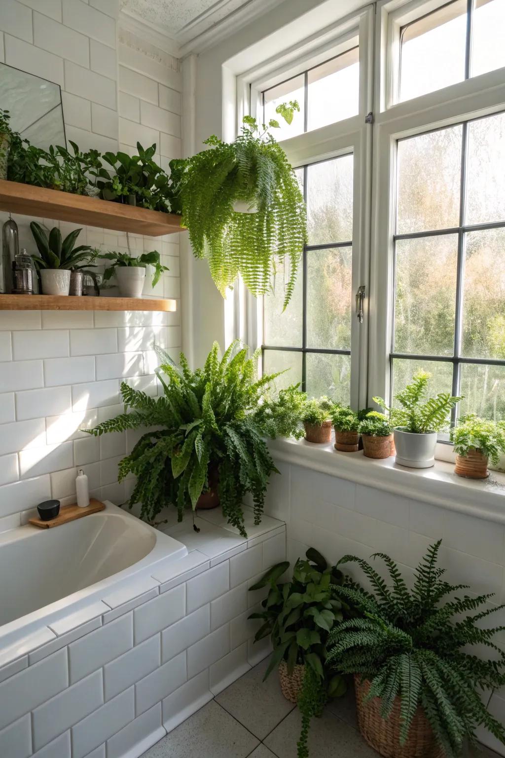
[(0, 311), (176, 311), (176, 300), (73, 295), (2, 295)]

